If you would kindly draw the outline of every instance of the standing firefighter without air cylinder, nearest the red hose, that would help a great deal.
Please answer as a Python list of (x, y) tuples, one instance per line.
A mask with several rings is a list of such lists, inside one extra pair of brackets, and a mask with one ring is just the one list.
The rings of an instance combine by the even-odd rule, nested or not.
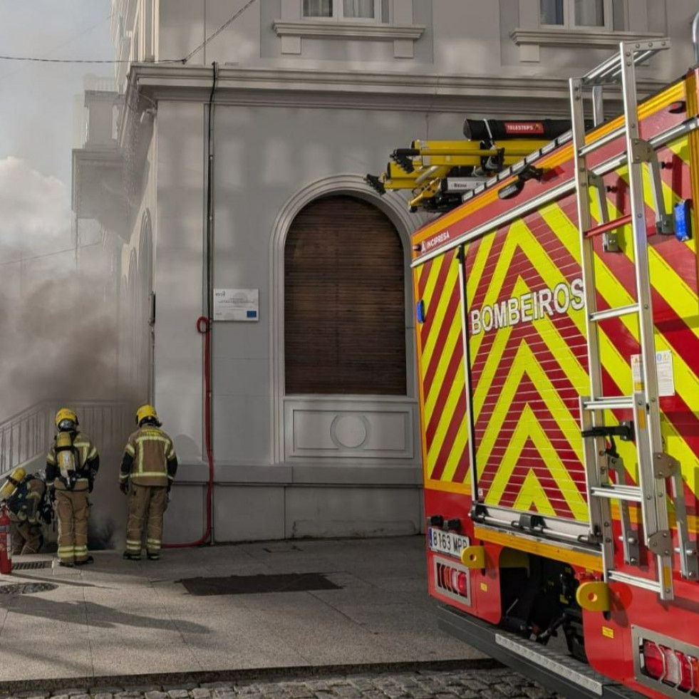
[(162, 546), (162, 515), (177, 472), (175, 445), (160, 429), (162, 423), (152, 405), (136, 411), (138, 429), (124, 450), (119, 474), (121, 492), (128, 495), (128, 523), (124, 558), (141, 557), (145, 524), (145, 550), (148, 559), (157, 561)]

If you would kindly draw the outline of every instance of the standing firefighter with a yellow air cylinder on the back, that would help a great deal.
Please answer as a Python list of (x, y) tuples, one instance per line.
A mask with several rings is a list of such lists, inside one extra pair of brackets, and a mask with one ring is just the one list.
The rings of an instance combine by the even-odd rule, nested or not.
[(100, 457), (95, 445), (78, 432), (78, 416), (70, 408), (56, 413), (58, 432), (46, 457), (46, 485), (56, 503), (58, 517), (58, 563), (82, 566), (92, 563), (88, 555), (88, 517)]

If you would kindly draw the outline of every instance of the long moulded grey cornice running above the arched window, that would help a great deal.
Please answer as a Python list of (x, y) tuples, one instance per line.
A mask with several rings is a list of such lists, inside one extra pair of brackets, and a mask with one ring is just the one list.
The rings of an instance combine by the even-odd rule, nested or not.
[[(638, 90), (653, 93), (663, 84), (638, 81)], [(138, 130), (144, 108), (155, 107), (160, 100), (208, 101), (211, 85), (212, 71), (208, 67), (134, 63), (128, 77), (120, 147), (125, 147), (132, 138), (128, 134)], [(214, 99), (217, 104), (276, 108), (439, 111), (492, 118), (501, 115), (537, 118), (542, 114), (569, 117), (566, 77), (440, 76), (222, 66)], [(621, 95), (609, 90), (607, 103), (615, 106), (620, 101)]]

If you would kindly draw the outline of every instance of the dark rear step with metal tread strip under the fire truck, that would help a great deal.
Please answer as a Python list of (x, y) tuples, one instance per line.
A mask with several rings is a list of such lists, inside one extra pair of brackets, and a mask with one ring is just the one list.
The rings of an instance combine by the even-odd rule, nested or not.
[(566, 699), (638, 699), (641, 696), (570, 656), (502, 631), (455, 609), (438, 606), (437, 621), (442, 631), (460, 638)]

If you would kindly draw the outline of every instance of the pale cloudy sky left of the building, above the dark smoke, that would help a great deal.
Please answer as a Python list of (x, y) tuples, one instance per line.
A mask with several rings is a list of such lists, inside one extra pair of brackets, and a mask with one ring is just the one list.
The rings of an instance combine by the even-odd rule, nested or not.
[[(110, 0), (0, 0), (0, 54), (112, 59), (110, 12)], [(113, 66), (0, 59), (2, 261), (19, 247), (32, 254), (70, 242), (75, 103), (86, 73), (111, 76)]]

